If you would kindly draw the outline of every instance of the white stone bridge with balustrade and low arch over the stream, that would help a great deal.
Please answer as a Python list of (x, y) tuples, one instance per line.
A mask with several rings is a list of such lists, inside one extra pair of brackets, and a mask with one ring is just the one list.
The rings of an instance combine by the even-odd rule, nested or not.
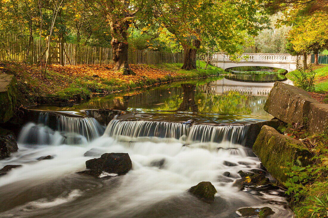
[[(224, 70), (237, 66), (265, 66), (285, 69), (288, 72), (296, 70), (298, 65), (303, 64), (303, 56), (293, 56), (290, 54), (265, 54), (265, 53), (243, 53), (240, 61), (233, 62), (229, 55), (215, 53), (210, 62), (211, 65), (220, 67)], [(307, 57), (310, 64), (311, 55)]]

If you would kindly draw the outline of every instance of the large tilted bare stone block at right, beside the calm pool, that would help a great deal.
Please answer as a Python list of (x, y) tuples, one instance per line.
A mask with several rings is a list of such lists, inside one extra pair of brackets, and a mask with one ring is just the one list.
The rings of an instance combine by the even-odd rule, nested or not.
[(275, 82), (265, 102), (264, 110), (285, 123), (304, 124), (304, 118), (309, 115), (311, 103), (319, 102), (303, 89), (283, 82)]

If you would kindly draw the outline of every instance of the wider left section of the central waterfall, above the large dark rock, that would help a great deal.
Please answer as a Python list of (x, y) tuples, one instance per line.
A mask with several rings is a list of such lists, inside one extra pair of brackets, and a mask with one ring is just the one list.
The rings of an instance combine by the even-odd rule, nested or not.
[(181, 141), (184, 143), (189, 123), (120, 120), (113, 119), (107, 126), (105, 136), (111, 136), (119, 141)]

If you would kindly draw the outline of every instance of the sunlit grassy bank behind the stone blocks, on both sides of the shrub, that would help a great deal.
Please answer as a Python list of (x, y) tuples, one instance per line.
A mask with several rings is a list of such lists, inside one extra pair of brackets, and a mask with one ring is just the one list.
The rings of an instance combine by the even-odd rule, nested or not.
[[(328, 103), (328, 65), (310, 65), (310, 68), (314, 71), (314, 90), (310, 92), (312, 97), (322, 103)], [(294, 81), (295, 85), (301, 86), (301, 82), (298, 82), (298, 78), (302, 78), (299, 70), (294, 70), (286, 74), (287, 78)], [(304, 80), (307, 82), (307, 80)]]

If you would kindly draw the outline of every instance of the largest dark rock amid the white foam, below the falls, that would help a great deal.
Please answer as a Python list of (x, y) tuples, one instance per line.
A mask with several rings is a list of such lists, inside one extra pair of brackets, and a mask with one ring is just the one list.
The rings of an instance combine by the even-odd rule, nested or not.
[(132, 169), (132, 161), (127, 153), (105, 153), (99, 158), (87, 160), (85, 165), (90, 170), (99, 169), (118, 175), (126, 174)]

